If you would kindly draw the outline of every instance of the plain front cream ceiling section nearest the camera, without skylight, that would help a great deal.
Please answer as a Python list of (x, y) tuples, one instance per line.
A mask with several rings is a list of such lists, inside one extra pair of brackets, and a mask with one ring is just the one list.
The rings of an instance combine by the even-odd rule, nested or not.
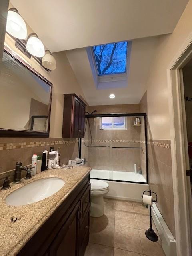
[(52, 51), (172, 33), (188, 0), (10, 0)]

